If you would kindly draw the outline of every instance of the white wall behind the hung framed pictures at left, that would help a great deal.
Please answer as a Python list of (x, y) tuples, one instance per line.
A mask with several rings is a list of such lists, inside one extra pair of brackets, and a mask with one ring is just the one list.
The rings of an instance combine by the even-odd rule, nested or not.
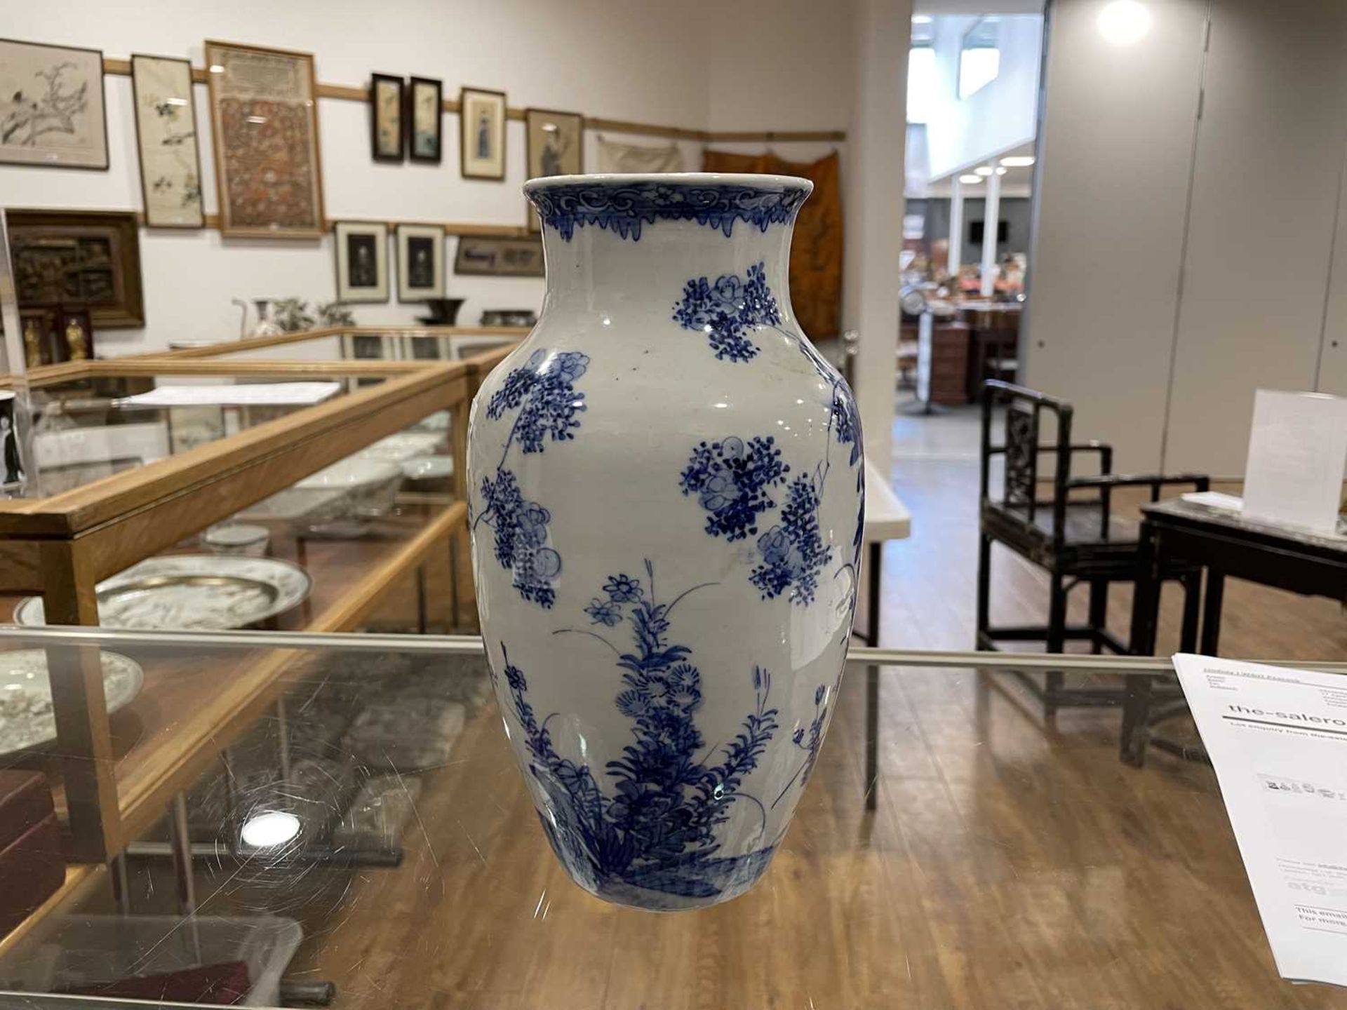
[[(710, 108), (704, 20), (686, 7), (617, 0), (498, 0), (490, 4), (400, 0), (370, 8), (326, 0), (67, 0), (59, 5), (5, 5), (9, 38), (101, 48), (108, 57), (150, 53), (202, 63), (206, 38), (311, 51), (319, 81), (361, 85), (370, 71), (445, 81), (446, 96), (463, 83), (498, 88), (511, 105), (574, 109), (590, 116), (703, 128)], [(131, 79), (108, 77), (106, 172), (0, 166), (0, 205), (139, 209), (140, 175), (131, 119)], [(207, 211), (216, 210), (206, 90), (197, 86)], [(764, 101), (737, 128), (770, 123)], [(506, 179), (465, 180), (458, 171), (458, 119), (445, 117), (440, 166), (385, 166), (369, 158), (369, 110), (362, 102), (321, 100), (323, 189), (327, 217), (524, 224), (524, 131), (508, 128)], [(762, 119), (757, 119), (761, 116)], [(845, 120), (834, 120), (838, 127)], [(616, 135), (613, 135), (616, 136)], [(630, 139), (643, 143), (638, 137)], [(594, 164), (594, 135), (587, 135)], [(663, 143), (644, 139), (644, 143)], [(690, 168), (698, 144), (684, 144)], [(455, 240), (447, 244), (453, 263)], [(238, 331), (230, 298), (335, 294), (331, 240), (224, 240), (218, 232), (141, 230), (147, 327), (98, 334), (102, 354), (163, 347), (171, 339), (221, 339)], [(482, 308), (533, 307), (541, 280), (457, 277), (447, 294), (466, 298), (461, 321)], [(411, 323), (419, 304), (356, 306), (362, 323)]]

